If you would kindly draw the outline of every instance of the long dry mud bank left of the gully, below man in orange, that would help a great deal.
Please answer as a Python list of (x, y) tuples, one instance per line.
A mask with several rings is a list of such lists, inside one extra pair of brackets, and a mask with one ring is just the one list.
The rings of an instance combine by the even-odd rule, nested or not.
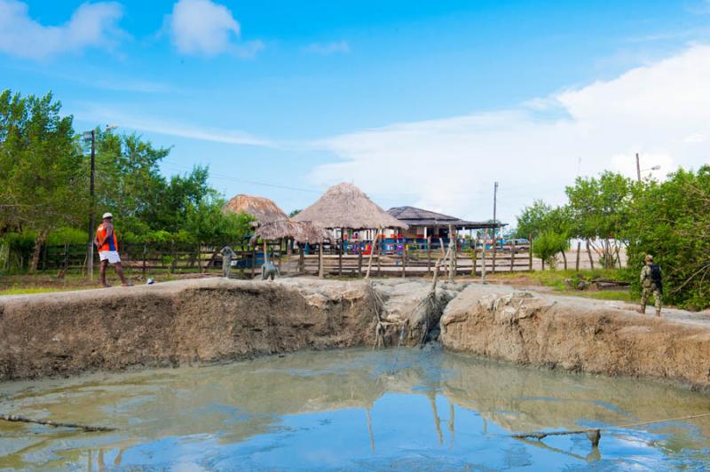
[[(375, 288), (377, 300), (364, 281), (199, 279), (3, 297), (0, 381), (372, 346), (374, 303), (414, 310), (429, 284), (378, 282)], [(442, 290), (438, 295), (445, 297), (441, 309), (453, 296)], [(432, 324), (429, 312), (418, 313), (406, 338), (410, 344)], [(397, 342), (403, 316), (383, 314), (385, 345)]]

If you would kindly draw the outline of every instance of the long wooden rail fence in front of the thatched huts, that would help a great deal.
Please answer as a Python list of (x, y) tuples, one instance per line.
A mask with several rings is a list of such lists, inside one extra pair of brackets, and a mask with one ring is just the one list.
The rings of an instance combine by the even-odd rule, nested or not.
[[(248, 244), (229, 245), (234, 253), (232, 273), (235, 277), (253, 278), (261, 271), (264, 263), (264, 246)], [(193, 272), (221, 271), (222, 245), (189, 245), (180, 243), (125, 243), (120, 244), (123, 267), (130, 271), (140, 271), (144, 275), (151, 271)], [(304, 254), (303, 248), (288, 248), (279, 242), (267, 243), (266, 252), (282, 275), (319, 273), (320, 256), (310, 248)], [(409, 248), (402, 253), (375, 254), (372, 256), (371, 275), (374, 277), (410, 277), (430, 275), (443, 251)], [(337, 247), (324, 245), (323, 268), (327, 275), (362, 276), (367, 271), (370, 256), (367, 254), (343, 254)], [(99, 264), (95, 255), (94, 266)], [(488, 273), (500, 271), (532, 271), (533, 256), (529, 251), (515, 248), (506, 251), (488, 249), (483, 255), (478, 248), (459, 253), (456, 256), (457, 275), (478, 275), (483, 270)], [(441, 271), (448, 269), (442, 267)], [(47, 246), (40, 256), (39, 269), (43, 271), (83, 271), (86, 267), (86, 246)]]

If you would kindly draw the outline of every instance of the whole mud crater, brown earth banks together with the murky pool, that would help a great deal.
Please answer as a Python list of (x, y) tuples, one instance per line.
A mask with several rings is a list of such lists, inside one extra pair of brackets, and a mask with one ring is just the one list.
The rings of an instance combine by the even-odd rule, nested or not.
[[(701, 316), (431, 287), (202, 279), (4, 297), (0, 414), (114, 430), (0, 421), (0, 468), (709, 465)], [(604, 434), (513, 436), (560, 428)]]

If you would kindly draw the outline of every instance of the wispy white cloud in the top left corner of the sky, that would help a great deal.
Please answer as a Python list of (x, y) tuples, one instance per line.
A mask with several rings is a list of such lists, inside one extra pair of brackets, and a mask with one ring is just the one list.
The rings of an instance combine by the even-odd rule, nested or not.
[(111, 48), (125, 35), (116, 23), (122, 7), (114, 2), (82, 4), (67, 23), (44, 26), (29, 16), (28, 5), (0, 0), (0, 51), (25, 59), (45, 59), (88, 47)]

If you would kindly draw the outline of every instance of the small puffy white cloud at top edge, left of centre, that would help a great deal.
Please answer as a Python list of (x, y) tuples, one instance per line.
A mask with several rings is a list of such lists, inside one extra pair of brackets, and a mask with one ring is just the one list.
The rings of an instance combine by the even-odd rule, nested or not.
[(170, 36), (177, 51), (183, 54), (215, 56), (233, 52), (240, 57), (254, 57), (264, 43), (235, 43), (241, 26), (225, 5), (210, 0), (179, 0), (168, 19)]

